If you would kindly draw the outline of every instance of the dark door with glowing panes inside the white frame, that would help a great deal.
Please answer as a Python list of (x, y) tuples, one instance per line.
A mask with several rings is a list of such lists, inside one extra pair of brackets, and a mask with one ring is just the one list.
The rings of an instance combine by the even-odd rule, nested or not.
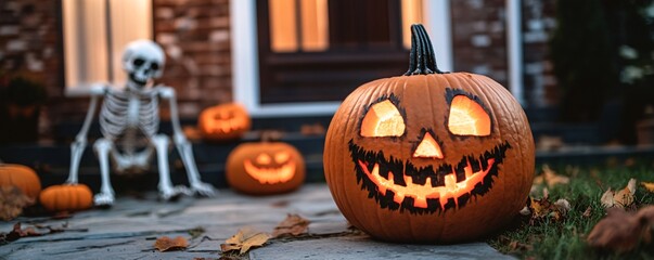
[(422, 0), (257, 1), (261, 103), (343, 100), (401, 75)]

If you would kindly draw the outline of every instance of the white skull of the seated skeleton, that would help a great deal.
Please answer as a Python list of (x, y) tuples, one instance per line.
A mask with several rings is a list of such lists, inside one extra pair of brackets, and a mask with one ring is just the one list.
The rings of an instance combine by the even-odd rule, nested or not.
[(132, 41), (123, 53), (123, 69), (129, 75), (128, 80), (138, 87), (161, 77), (165, 62), (164, 51), (151, 40)]

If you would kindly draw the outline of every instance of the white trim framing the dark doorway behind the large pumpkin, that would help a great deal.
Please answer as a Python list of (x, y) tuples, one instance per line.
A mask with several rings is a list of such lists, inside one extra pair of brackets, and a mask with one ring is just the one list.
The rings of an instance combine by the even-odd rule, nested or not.
[[(256, 0), (230, 2), (232, 94), (252, 117), (332, 115), (341, 102), (260, 104)], [(423, 1), (426, 23), (441, 70), (452, 69), (449, 0)]]

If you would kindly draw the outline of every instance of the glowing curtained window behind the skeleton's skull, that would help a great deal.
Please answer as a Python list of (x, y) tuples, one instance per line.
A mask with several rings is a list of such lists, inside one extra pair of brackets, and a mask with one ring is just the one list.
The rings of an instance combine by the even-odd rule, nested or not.
[(152, 0), (62, 0), (67, 94), (91, 83), (123, 86), (125, 46), (152, 39)]

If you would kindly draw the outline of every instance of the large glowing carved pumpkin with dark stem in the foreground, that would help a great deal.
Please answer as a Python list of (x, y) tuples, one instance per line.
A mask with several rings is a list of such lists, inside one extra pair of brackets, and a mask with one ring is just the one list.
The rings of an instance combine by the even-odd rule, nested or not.
[(426, 31), (411, 28), (409, 72), (360, 86), (332, 118), (326, 182), (347, 220), (379, 239), (477, 239), (525, 205), (531, 130), (504, 87), (438, 70)]

